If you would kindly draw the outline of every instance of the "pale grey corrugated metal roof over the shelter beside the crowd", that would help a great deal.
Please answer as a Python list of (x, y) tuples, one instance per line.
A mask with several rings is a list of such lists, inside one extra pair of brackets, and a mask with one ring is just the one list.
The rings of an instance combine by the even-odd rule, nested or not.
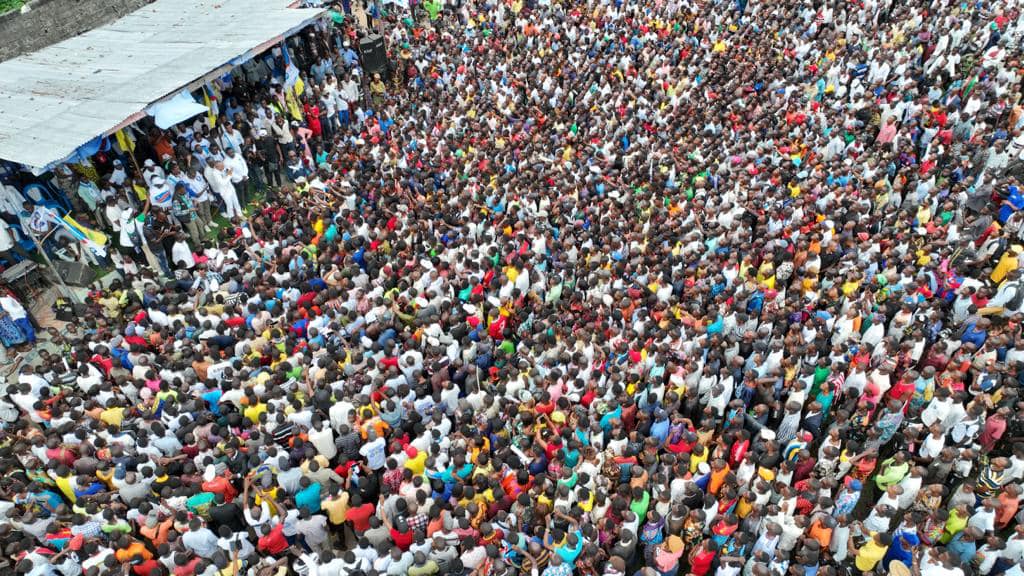
[(48, 166), (267, 41), (323, 13), (289, 0), (157, 0), (0, 63), (0, 158)]

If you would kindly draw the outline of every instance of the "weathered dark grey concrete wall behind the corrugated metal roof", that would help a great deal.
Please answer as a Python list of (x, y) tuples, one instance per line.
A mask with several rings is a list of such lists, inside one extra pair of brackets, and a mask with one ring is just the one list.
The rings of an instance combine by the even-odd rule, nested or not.
[(153, 0), (32, 0), (0, 15), (0, 61), (110, 24)]

